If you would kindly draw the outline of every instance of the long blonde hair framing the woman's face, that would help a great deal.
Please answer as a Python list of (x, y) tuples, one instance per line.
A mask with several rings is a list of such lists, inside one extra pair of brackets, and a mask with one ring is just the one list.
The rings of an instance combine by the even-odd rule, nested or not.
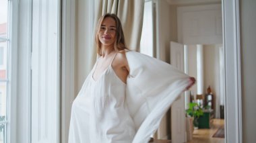
[(98, 21), (98, 26), (97, 26), (97, 29), (96, 29), (96, 32), (95, 32), (95, 40), (96, 40), (98, 55), (102, 56), (102, 49), (101, 49), (102, 44), (100, 42), (100, 39), (98, 38), (98, 33), (100, 32), (100, 26), (102, 24), (102, 21), (106, 17), (111, 17), (116, 22), (116, 32), (117, 33), (116, 33), (116, 39), (115, 39), (115, 44), (114, 44), (115, 51), (121, 52), (121, 51), (124, 51), (124, 50), (129, 50), (129, 48), (127, 48), (127, 46), (125, 44), (125, 36), (123, 34), (122, 23), (121, 23), (119, 17), (117, 17), (117, 15), (115, 15), (113, 13), (106, 13), (105, 15), (100, 17), (100, 19)]

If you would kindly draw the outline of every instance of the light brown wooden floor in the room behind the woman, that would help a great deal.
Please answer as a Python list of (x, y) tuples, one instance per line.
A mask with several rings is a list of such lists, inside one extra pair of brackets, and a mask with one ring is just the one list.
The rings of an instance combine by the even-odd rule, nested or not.
[[(193, 132), (193, 140), (187, 143), (224, 143), (224, 138), (212, 138), (220, 126), (224, 126), (224, 120), (214, 119), (210, 129), (197, 129)], [(154, 140), (150, 143), (170, 143), (170, 140)]]

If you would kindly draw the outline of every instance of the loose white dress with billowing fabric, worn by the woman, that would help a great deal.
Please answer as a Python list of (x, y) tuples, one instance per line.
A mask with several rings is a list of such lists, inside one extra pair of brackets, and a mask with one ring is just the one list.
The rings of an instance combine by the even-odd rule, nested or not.
[(170, 64), (126, 52), (127, 84), (111, 64), (94, 81), (94, 68), (73, 101), (69, 143), (143, 143), (157, 130), (171, 103), (189, 85), (189, 76)]

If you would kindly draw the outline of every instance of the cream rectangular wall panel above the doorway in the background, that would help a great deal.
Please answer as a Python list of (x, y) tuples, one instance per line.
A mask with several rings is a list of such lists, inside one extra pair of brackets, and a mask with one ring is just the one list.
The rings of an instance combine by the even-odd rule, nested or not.
[(178, 42), (182, 44), (222, 43), (221, 4), (177, 7)]

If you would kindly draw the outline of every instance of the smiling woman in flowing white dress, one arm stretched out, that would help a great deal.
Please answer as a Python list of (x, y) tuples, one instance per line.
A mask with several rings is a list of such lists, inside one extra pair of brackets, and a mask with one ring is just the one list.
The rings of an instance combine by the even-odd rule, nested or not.
[(115, 14), (100, 18), (96, 44), (99, 58), (73, 101), (69, 143), (148, 142), (172, 101), (195, 79), (129, 51)]

